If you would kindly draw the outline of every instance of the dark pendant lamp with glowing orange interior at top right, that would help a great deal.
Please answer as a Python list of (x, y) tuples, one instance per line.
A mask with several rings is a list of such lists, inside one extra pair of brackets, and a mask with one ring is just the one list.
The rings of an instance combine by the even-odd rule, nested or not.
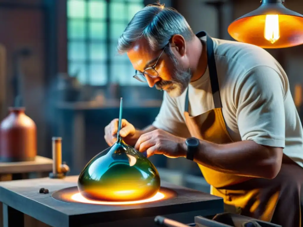
[(229, 35), (262, 48), (303, 44), (303, 15), (285, 8), (283, 3), (284, 0), (261, 0), (259, 8), (229, 25)]

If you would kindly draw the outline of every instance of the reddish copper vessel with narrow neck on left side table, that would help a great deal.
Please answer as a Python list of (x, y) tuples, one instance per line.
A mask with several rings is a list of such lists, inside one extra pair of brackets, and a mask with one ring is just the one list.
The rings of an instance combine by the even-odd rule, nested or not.
[(0, 162), (33, 161), (37, 155), (35, 122), (24, 107), (10, 107), (0, 123)]

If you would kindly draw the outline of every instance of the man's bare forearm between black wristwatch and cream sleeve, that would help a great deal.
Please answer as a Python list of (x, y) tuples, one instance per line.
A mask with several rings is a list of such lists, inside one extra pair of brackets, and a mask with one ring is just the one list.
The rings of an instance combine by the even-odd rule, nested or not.
[(215, 144), (200, 140), (195, 162), (223, 173), (272, 179), (280, 168), (283, 149), (252, 140)]

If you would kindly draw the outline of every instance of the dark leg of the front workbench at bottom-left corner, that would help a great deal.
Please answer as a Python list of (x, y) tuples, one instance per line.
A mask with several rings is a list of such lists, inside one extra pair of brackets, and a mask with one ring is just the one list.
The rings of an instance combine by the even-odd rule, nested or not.
[(24, 214), (5, 203), (2, 203), (3, 227), (24, 226)]

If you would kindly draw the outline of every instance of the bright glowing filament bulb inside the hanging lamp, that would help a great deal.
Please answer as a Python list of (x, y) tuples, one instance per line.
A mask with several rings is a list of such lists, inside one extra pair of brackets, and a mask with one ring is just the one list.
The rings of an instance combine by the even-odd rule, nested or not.
[(274, 44), (280, 38), (279, 16), (266, 15), (264, 38)]

